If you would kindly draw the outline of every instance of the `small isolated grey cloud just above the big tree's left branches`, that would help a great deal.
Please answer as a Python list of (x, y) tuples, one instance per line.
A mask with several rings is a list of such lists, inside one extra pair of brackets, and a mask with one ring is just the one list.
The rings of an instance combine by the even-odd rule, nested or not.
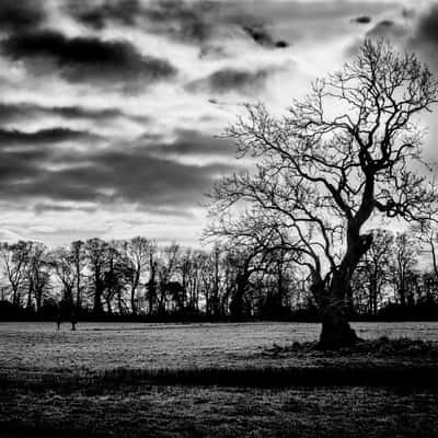
[(254, 89), (263, 89), (268, 73), (267, 70), (249, 71), (228, 68), (193, 81), (187, 84), (186, 89), (194, 92), (210, 91), (219, 94), (230, 91), (251, 93)]

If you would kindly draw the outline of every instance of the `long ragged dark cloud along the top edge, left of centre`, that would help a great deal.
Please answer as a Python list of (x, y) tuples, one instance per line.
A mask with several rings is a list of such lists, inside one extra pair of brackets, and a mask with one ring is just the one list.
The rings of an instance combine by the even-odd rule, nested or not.
[[(264, 47), (284, 48), (285, 41), (276, 41), (264, 28), (263, 15), (254, 16), (245, 4), (227, 4), (221, 1), (184, 0), (106, 0), (99, 5), (70, 2), (70, 13), (82, 24), (103, 28), (116, 22), (124, 25), (143, 25), (147, 32), (173, 39), (207, 44), (220, 30), (228, 33), (239, 28)], [(256, 24), (255, 24), (256, 23)], [(232, 33), (232, 32), (231, 32)], [(234, 35), (235, 36), (235, 35)]]

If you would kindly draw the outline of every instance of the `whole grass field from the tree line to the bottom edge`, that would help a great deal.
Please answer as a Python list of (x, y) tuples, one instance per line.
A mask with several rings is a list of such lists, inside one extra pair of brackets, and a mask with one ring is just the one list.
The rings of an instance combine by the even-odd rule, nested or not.
[(438, 436), (438, 323), (354, 325), (0, 323), (0, 437)]

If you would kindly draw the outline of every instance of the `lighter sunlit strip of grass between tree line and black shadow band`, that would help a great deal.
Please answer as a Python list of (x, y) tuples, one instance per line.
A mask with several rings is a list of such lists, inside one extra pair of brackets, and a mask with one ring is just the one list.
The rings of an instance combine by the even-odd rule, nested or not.
[[(438, 342), (438, 323), (354, 323), (360, 337)], [(0, 367), (66, 372), (115, 368), (192, 368), (302, 365), (307, 357), (273, 359), (275, 345), (315, 342), (320, 324), (0, 323)], [(322, 358), (320, 358), (322, 359)]]

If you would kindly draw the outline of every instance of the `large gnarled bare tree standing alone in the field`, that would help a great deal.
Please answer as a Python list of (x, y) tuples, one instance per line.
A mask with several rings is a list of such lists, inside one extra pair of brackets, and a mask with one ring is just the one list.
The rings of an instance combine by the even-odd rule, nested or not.
[(412, 170), (422, 163), (415, 116), (437, 101), (438, 83), (415, 55), (366, 41), (356, 60), (313, 83), (284, 117), (246, 105), (247, 116), (228, 129), (240, 157), (257, 164), (216, 186), (211, 214), (219, 219), (209, 232), (280, 230), (283, 247), (311, 274), (323, 348), (357, 342), (346, 296), (372, 243), (364, 226), (373, 214), (422, 220), (437, 198)]

